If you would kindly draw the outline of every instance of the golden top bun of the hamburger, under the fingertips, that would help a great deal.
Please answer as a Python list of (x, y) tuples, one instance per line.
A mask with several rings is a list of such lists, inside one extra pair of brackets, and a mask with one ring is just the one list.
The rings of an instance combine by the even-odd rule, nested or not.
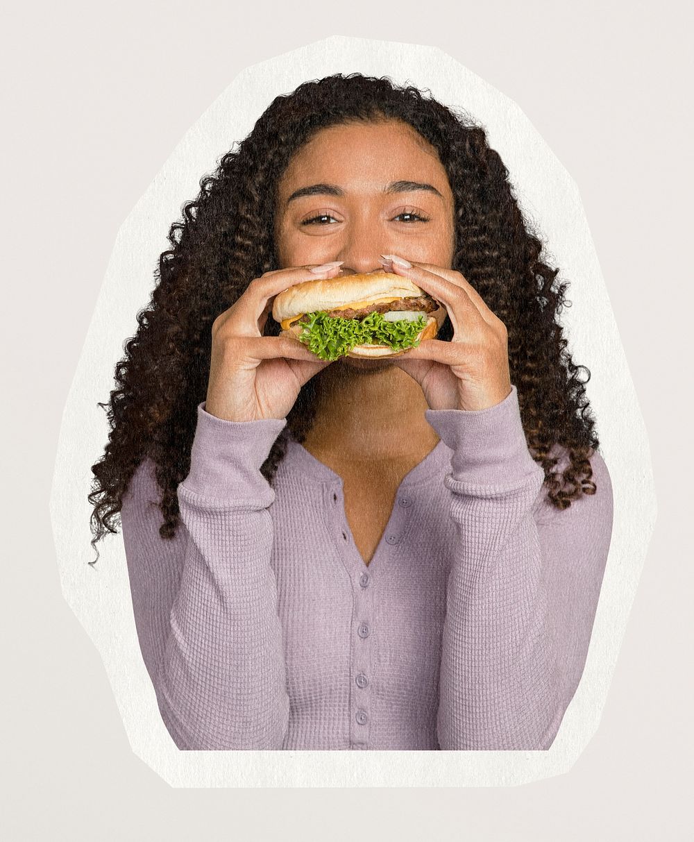
[(275, 322), (302, 316), (304, 313), (320, 310), (329, 312), (340, 307), (349, 307), (355, 301), (376, 301), (393, 296), (397, 298), (419, 298), (428, 295), (419, 286), (402, 275), (391, 272), (368, 274), (344, 274), (337, 278), (305, 280), (290, 286), (275, 296), (272, 317)]

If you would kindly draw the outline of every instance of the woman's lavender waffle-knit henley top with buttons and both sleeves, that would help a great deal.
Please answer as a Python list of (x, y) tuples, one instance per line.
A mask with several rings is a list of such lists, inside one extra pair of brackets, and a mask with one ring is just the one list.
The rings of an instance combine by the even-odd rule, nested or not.
[[(548, 503), (515, 386), (440, 437), (398, 488), (370, 564), (343, 482), (286, 419), (198, 407), (175, 538), (154, 466), (121, 524), (141, 652), (179, 749), (548, 749), (579, 684), (610, 545), (612, 491)], [(559, 467), (568, 459), (564, 451)]]

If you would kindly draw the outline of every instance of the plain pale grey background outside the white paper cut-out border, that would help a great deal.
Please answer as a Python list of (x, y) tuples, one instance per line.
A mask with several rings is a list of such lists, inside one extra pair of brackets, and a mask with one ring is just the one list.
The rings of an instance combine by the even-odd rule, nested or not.
[[(29, 4), (3, 27), (3, 492), (11, 504), (3, 506), (11, 527), (3, 530), (11, 673), (3, 838), (686, 839), (685, 20), (666, 3), (651, 11), (458, 2), (447, 11), (354, 2), (352, 25), (340, 10)], [(649, 428), (659, 520), (601, 727), (571, 772), (550, 781), (507, 790), (172, 790), (131, 754), (99, 653), (61, 598), (51, 469), (115, 232), (243, 67), (334, 34), (436, 45), (509, 95), (579, 185), (590, 222)]]

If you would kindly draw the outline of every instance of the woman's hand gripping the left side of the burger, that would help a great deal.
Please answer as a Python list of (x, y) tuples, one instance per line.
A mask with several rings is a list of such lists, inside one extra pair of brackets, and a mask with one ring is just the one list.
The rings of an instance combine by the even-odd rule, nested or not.
[(330, 365), (296, 339), (262, 335), (276, 295), (302, 281), (334, 278), (340, 267), (310, 269), (265, 272), (216, 317), (206, 412), (225, 421), (286, 418), (304, 383)]

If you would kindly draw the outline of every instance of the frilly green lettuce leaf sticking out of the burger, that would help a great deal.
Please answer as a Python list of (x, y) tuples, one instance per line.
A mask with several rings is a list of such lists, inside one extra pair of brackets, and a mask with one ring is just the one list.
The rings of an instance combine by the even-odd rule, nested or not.
[(388, 322), (379, 312), (371, 312), (362, 319), (331, 317), (322, 310), (306, 316), (308, 322), (299, 322), (303, 328), (299, 340), (321, 360), (331, 361), (346, 357), (356, 345), (390, 345), (398, 351), (416, 348), (417, 334), (427, 322), (424, 313), (415, 322), (408, 319)]

